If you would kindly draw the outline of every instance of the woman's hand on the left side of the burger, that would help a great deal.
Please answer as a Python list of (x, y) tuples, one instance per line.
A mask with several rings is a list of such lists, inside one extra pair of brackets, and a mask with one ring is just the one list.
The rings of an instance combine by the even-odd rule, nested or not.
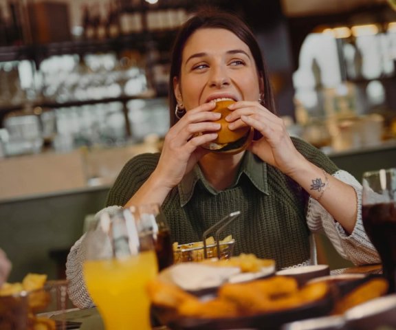
[[(221, 118), (220, 113), (212, 112), (215, 106), (215, 102), (209, 102), (187, 111), (166, 134), (155, 175), (159, 175), (169, 188), (177, 186), (199, 159), (209, 152), (200, 146), (215, 140), (216, 131), (221, 128), (219, 123), (214, 122)], [(199, 134), (201, 132), (211, 133)]]

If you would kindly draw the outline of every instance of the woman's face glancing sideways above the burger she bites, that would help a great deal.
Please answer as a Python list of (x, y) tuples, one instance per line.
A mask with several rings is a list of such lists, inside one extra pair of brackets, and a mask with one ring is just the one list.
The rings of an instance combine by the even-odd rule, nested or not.
[(259, 75), (248, 45), (229, 30), (195, 31), (184, 47), (174, 90), (187, 111), (216, 98), (259, 100)]

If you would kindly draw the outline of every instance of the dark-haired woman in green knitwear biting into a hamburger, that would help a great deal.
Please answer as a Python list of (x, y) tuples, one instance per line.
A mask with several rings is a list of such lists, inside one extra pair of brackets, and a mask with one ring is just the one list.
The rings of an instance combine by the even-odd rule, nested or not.
[[(324, 154), (287, 134), (274, 112), (267, 70), (249, 28), (231, 14), (202, 12), (182, 27), (170, 69), (170, 130), (162, 153), (138, 155), (122, 169), (107, 208), (160, 203), (173, 240), (200, 241), (230, 212), (234, 254), (276, 260), (278, 268), (316, 262), (311, 232), (325, 230), (344, 258), (378, 262), (360, 214), (361, 186)], [(255, 140), (236, 155), (212, 153), (219, 98), (232, 98), (230, 129), (251, 126)], [(70, 296), (90, 304), (80, 239), (67, 262)], [(313, 247), (313, 248), (312, 248)]]

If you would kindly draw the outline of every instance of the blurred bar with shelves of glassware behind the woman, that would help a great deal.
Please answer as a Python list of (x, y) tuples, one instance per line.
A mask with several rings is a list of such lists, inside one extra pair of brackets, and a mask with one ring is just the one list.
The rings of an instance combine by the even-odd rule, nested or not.
[[(361, 180), (395, 166), (396, 12), (386, 0), (0, 0), (0, 247), (64, 276), (125, 162), (160, 151), (170, 47), (202, 5), (239, 14), (278, 114)], [(349, 265), (318, 237), (321, 260)]]

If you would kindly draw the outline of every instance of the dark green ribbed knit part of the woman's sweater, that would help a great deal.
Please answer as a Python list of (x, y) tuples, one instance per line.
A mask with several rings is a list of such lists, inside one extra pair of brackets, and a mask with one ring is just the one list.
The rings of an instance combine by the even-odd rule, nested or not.
[[(310, 162), (333, 174), (337, 166), (322, 152), (303, 140), (294, 145)], [(142, 186), (157, 166), (159, 154), (133, 157), (122, 168), (109, 192), (107, 206), (123, 206)], [(267, 165), (269, 194), (258, 190), (247, 175), (232, 188), (213, 195), (198, 181), (192, 198), (181, 208), (175, 187), (166, 197), (162, 210), (173, 241), (201, 241), (205, 230), (236, 210), (241, 215), (221, 236), (232, 234), (234, 255), (254, 253), (276, 261), (278, 269), (303, 263), (310, 258), (309, 229), (306, 223), (309, 195), (295, 181)]]

